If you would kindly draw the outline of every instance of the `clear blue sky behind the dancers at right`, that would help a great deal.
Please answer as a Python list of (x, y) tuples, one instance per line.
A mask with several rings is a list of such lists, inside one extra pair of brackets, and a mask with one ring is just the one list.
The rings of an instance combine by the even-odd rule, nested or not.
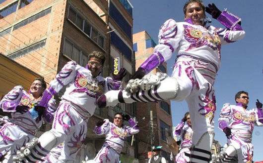
[[(159, 28), (167, 19), (184, 21), (183, 6), (186, 0), (130, 0), (133, 5), (133, 33), (147, 31), (158, 43)], [(263, 0), (203, 0), (204, 4), (215, 3), (220, 10), (228, 11), (242, 18), (246, 31), (243, 40), (222, 46), (221, 68), (214, 84), (216, 93), (215, 140), (226, 143), (225, 134), (218, 129), (218, 116), (224, 103), (235, 104), (236, 92), (249, 92), (249, 109), (256, 108), (256, 100), (263, 102)], [(211, 18), (209, 14), (206, 14)], [(212, 19), (212, 18), (211, 18)], [(211, 25), (223, 27), (212, 19)], [(168, 74), (176, 53), (168, 60)], [(186, 102), (172, 102), (173, 125), (177, 125), (188, 111)], [(255, 126), (253, 131), (254, 161), (263, 161), (263, 127)]]

